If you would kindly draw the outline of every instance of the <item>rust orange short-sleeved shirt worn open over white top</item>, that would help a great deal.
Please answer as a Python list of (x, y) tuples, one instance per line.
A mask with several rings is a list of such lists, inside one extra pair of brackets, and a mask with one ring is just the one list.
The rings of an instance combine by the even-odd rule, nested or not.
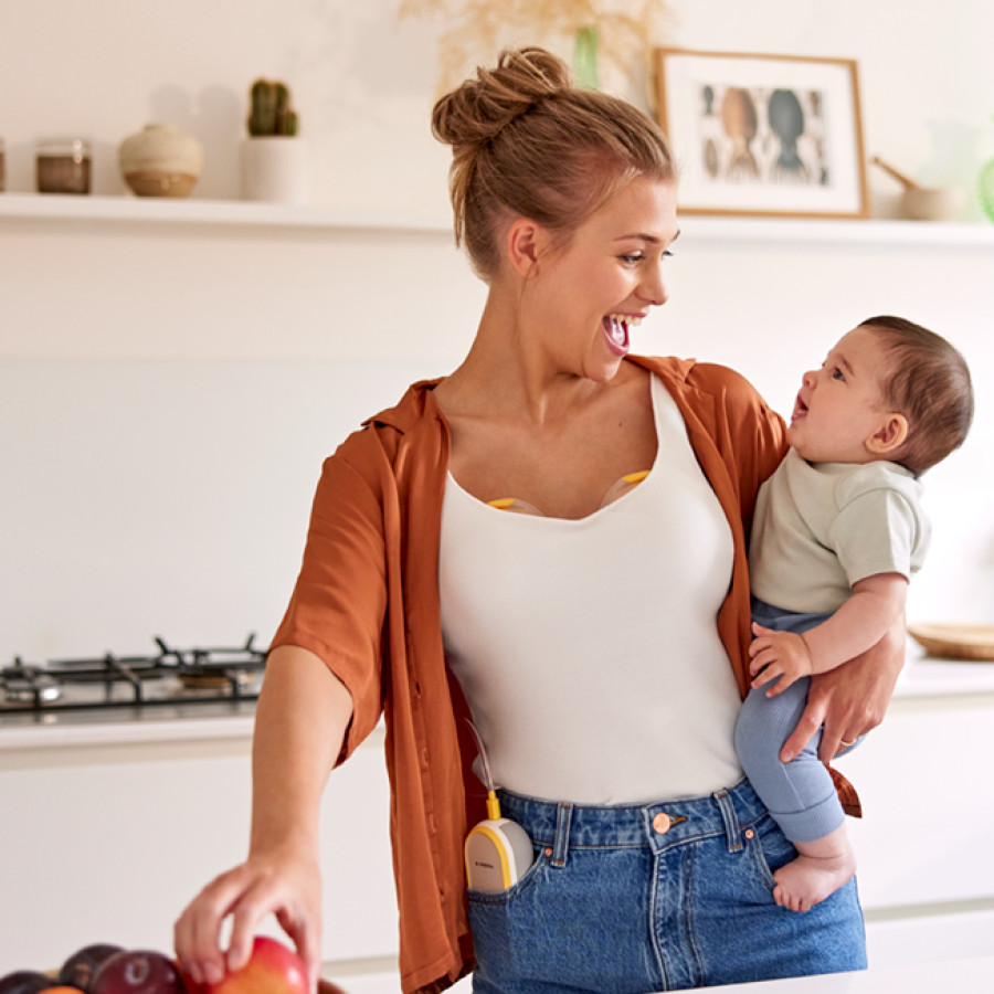
[[(718, 632), (748, 686), (747, 544), (759, 485), (785, 451), (784, 425), (740, 376), (694, 360), (630, 361), (676, 401), (728, 517), (734, 563)], [(438, 533), (450, 434), (433, 382), (350, 435), (324, 465), (300, 574), (273, 647), (299, 645), (352, 695), (339, 761), (384, 715), (404, 992), (450, 986), (473, 965), (462, 846), (486, 817), (475, 744), (450, 677), (438, 607)]]

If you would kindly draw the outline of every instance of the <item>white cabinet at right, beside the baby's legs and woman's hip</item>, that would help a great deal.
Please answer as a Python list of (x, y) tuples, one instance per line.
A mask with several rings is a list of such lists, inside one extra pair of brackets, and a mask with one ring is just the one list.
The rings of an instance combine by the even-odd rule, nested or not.
[(887, 719), (839, 769), (871, 965), (994, 954), (994, 664), (917, 659)]

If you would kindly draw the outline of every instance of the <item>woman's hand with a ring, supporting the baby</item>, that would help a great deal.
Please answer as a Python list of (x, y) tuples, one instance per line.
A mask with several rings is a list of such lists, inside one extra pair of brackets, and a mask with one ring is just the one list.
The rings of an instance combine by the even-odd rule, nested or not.
[(818, 759), (829, 762), (840, 748), (876, 728), (887, 712), (905, 665), (905, 616), (861, 656), (811, 678), (807, 707), (780, 752), (789, 763), (822, 729)]

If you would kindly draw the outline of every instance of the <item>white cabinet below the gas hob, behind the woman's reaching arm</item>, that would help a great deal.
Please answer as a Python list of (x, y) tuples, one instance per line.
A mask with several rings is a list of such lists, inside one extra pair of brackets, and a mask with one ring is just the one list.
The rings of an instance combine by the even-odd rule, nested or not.
[[(0, 974), (57, 966), (89, 942), (169, 951), (184, 905), (244, 857), (251, 721), (138, 725), (0, 725)], [(325, 794), (327, 959), (395, 956), (388, 828), (374, 733)]]

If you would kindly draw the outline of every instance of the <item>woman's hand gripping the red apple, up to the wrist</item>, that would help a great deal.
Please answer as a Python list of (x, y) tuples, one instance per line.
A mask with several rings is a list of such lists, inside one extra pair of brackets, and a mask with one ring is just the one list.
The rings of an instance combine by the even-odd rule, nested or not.
[[(251, 856), (215, 877), (176, 923), (176, 954), (197, 983), (219, 983), (243, 966), (256, 929), (273, 913), (307, 967), (311, 988), (320, 969), (321, 897), (317, 859), (295, 853)], [(221, 928), (231, 918), (228, 950)]]

